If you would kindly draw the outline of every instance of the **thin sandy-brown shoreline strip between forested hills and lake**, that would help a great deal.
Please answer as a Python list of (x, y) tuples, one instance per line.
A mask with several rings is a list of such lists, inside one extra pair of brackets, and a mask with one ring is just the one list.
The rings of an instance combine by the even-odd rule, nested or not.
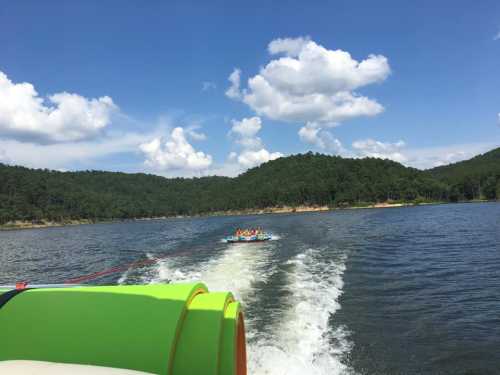
[(328, 211), (342, 211), (342, 210), (361, 210), (361, 209), (375, 209), (375, 208), (400, 208), (400, 207), (415, 207), (425, 205), (440, 205), (440, 204), (453, 204), (453, 203), (485, 203), (490, 202), (487, 200), (474, 200), (464, 202), (381, 202), (362, 206), (346, 206), (346, 207), (329, 207), (329, 206), (282, 206), (282, 207), (267, 207), (262, 209), (247, 209), (247, 210), (228, 210), (228, 211), (215, 211), (206, 214), (197, 215), (172, 215), (172, 216), (158, 216), (158, 217), (143, 217), (134, 219), (110, 219), (110, 220), (90, 220), (90, 219), (72, 219), (63, 222), (39, 220), (37, 222), (14, 220), (6, 224), (0, 225), (0, 231), (10, 230), (23, 230), (23, 229), (43, 229), (43, 228), (58, 228), (72, 225), (87, 225), (87, 224), (100, 224), (100, 223), (120, 223), (126, 221), (149, 221), (149, 220), (166, 220), (166, 219), (185, 219), (197, 217), (214, 217), (214, 216), (245, 216), (245, 215), (267, 215), (267, 214), (294, 214), (306, 212), (328, 212)]

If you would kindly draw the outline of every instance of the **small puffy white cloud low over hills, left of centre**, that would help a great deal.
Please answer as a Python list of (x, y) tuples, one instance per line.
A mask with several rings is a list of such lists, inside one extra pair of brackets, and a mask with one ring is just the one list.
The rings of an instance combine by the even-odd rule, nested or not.
[(174, 128), (166, 141), (157, 137), (139, 148), (146, 156), (145, 164), (157, 171), (202, 171), (212, 164), (212, 156), (196, 151), (181, 127)]

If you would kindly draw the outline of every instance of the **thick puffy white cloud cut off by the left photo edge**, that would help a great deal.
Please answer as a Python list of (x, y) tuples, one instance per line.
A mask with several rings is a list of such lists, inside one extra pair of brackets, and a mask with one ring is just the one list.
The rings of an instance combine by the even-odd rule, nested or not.
[(87, 99), (67, 92), (40, 97), (30, 83), (14, 83), (0, 71), (0, 134), (34, 143), (95, 138), (118, 108), (108, 96)]

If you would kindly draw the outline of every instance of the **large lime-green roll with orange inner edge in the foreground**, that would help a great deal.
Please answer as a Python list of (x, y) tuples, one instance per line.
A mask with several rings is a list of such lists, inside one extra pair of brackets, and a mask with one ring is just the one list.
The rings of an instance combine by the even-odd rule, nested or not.
[(246, 374), (240, 304), (203, 284), (31, 289), (0, 309), (0, 332), (0, 361)]

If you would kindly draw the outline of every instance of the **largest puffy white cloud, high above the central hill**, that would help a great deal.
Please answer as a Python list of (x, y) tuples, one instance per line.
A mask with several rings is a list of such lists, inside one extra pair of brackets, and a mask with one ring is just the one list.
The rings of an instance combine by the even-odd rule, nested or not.
[(240, 89), (240, 70), (229, 77), (226, 95), (242, 100), (257, 114), (286, 122), (334, 126), (359, 116), (374, 116), (384, 108), (354, 90), (384, 81), (390, 74), (387, 58), (369, 55), (356, 61), (348, 52), (328, 50), (307, 38), (276, 39), (271, 60)]

